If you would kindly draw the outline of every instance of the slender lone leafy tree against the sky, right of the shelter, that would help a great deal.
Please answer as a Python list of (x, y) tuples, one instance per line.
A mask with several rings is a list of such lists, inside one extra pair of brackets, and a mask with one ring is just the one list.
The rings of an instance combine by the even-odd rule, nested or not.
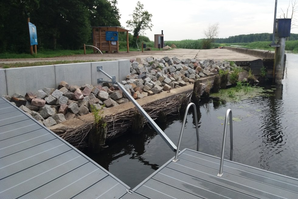
[[(137, 37), (139, 34), (144, 33), (145, 30), (152, 28), (151, 17), (147, 10), (144, 11), (144, 5), (140, 1), (137, 2), (137, 7), (134, 9), (132, 20), (126, 21), (127, 26), (133, 29), (133, 37)], [(152, 31), (152, 30), (151, 30)]]

